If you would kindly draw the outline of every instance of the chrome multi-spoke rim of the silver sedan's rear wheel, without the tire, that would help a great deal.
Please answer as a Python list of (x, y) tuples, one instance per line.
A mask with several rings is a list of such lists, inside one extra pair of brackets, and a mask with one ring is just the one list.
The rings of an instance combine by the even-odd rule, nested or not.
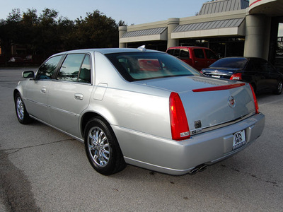
[(88, 152), (93, 162), (98, 167), (108, 165), (110, 158), (110, 146), (104, 131), (98, 126), (94, 126), (88, 133)]

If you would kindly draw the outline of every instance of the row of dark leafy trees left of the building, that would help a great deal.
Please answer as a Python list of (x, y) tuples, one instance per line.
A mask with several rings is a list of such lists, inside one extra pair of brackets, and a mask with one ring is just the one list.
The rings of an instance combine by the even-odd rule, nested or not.
[(12, 45), (23, 45), (27, 54), (40, 54), (43, 58), (69, 49), (118, 47), (120, 20), (105, 16), (96, 10), (86, 13), (85, 18), (69, 20), (59, 17), (59, 12), (45, 8), (37, 16), (35, 8), (21, 14), (13, 9), (6, 20), (0, 20), (0, 46), (11, 56)]

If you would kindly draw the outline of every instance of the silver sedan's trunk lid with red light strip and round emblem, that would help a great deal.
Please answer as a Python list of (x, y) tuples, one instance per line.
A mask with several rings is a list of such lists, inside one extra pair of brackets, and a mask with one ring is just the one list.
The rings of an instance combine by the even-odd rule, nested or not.
[(247, 83), (187, 76), (149, 80), (147, 86), (178, 93), (191, 134), (243, 119), (255, 113), (253, 92)]

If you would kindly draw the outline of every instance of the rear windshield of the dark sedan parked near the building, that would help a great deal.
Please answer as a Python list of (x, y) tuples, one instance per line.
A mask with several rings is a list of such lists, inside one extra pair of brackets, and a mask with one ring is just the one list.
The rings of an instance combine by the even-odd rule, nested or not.
[(209, 67), (243, 69), (247, 61), (246, 58), (223, 58), (214, 62)]

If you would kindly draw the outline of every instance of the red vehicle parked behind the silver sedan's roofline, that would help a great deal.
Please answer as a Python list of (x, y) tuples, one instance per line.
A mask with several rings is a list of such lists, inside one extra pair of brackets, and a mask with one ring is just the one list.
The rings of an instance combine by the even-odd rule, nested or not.
[(219, 59), (212, 49), (205, 47), (170, 47), (166, 52), (185, 61), (198, 71), (207, 68)]

